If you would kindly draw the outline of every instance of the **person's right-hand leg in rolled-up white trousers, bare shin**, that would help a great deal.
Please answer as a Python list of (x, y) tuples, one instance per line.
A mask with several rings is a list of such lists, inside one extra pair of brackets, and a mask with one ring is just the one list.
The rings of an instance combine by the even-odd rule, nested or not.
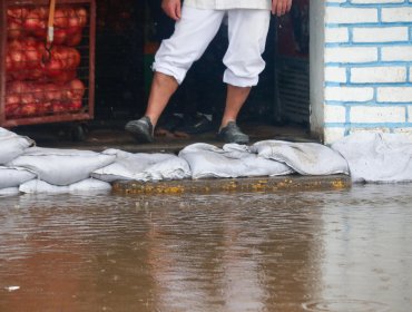
[[(271, 12), (266, 10), (230, 10), (228, 13), (229, 46), (224, 57), (227, 98), (220, 129), (237, 116), (245, 104), (251, 88), (258, 82), (258, 75), (265, 68), (262, 53), (265, 50)], [(241, 136), (247, 142), (246, 135)]]

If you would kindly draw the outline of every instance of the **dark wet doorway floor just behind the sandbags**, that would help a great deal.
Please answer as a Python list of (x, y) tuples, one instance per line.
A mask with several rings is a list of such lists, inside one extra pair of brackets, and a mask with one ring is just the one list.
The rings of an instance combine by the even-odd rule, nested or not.
[[(87, 126), (85, 139), (73, 142), (70, 136), (72, 125), (50, 124), (39, 126), (18, 127), (12, 129), (19, 135), (28, 136), (36, 140), (38, 146), (53, 148), (77, 148), (101, 152), (107, 148), (118, 148), (130, 153), (178, 153), (187, 145), (194, 143), (208, 143), (223, 146), (216, 140), (216, 133), (208, 131), (188, 137), (156, 136), (150, 144), (137, 143), (124, 130), (124, 121), (90, 121)], [(304, 126), (271, 126), (262, 124), (242, 124), (242, 128), (255, 143), (264, 139), (282, 139), (291, 142), (316, 142), (311, 138)]]

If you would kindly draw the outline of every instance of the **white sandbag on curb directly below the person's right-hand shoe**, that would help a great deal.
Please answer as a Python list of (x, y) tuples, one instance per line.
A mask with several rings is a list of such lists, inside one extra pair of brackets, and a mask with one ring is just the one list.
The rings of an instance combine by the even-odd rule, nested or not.
[(223, 149), (209, 144), (193, 144), (179, 153), (187, 160), (193, 178), (253, 177), (291, 174), (285, 164), (249, 153), (247, 146), (226, 144)]

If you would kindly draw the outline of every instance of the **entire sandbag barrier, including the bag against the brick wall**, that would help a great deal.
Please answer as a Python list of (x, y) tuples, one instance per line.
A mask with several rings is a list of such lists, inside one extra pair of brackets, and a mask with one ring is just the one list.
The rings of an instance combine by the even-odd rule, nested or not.
[(401, 134), (356, 134), (331, 147), (271, 139), (223, 148), (196, 143), (174, 155), (41, 148), (30, 138), (0, 127), (0, 195), (109, 191), (116, 181), (291, 174), (350, 174), (356, 183), (412, 182), (412, 138)]

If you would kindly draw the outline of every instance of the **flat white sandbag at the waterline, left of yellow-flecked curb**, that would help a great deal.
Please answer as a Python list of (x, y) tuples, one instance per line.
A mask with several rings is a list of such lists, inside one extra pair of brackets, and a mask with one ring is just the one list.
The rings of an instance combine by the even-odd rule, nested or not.
[(51, 185), (41, 179), (32, 179), (20, 185), (19, 191), (28, 194), (63, 194), (63, 193), (92, 193), (107, 192), (111, 189), (111, 185), (107, 182), (87, 178), (67, 186)]

